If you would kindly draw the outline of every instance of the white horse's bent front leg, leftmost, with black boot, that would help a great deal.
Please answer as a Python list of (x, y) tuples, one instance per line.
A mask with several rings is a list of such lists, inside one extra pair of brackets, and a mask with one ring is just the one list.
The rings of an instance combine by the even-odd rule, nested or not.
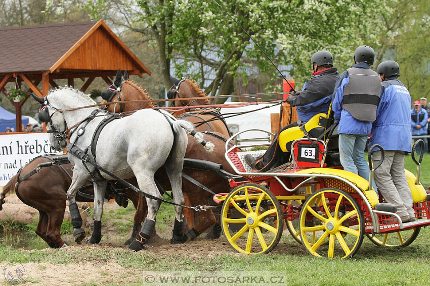
[(90, 178), (86, 170), (78, 168), (75, 165), (73, 169), (72, 183), (67, 190), (67, 200), (69, 201), (69, 211), (73, 226), (73, 238), (76, 243), (80, 243), (85, 238), (85, 231), (82, 226), (82, 217), (80, 216), (79, 209), (76, 204), (76, 193), (80, 186), (83, 186), (85, 182)]

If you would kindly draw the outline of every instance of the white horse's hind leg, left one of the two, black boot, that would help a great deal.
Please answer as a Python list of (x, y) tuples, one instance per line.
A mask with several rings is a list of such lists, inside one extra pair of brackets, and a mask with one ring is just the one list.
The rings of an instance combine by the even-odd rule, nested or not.
[[(154, 182), (154, 172), (150, 172), (149, 170), (141, 170), (139, 173), (135, 173), (135, 175), (138, 179), (139, 188), (142, 191), (161, 199), (160, 192), (158, 192), (157, 186)], [(146, 198), (146, 204), (148, 205), (148, 214), (145, 221), (143, 222), (139, 237), (134, 240), (130, 246), (128, 246), (128, 248), (135, 252), (146, 249), (145, 244), (147, 244), (151, 234), (154, 231), (155, 218), (157, 216), (157, 211), (161, 202)]]

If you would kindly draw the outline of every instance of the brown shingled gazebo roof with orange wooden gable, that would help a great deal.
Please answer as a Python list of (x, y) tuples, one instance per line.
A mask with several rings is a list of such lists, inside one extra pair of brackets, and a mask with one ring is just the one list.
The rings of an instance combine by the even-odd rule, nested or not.
[(151, 74), (102, 20), (1, 28), (0, 39), (0, 74), (118, 68)]

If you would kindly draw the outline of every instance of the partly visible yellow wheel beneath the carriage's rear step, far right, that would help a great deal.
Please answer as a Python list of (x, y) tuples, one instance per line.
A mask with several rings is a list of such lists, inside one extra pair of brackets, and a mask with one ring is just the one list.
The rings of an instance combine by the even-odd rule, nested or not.
[(419, 234), (421, 227), (414, 227), (411, 230), (400, 231), (389, 234), (367, 235), (371, 242), (377, 246), (385, 247), (405, 247), (410, 245)]

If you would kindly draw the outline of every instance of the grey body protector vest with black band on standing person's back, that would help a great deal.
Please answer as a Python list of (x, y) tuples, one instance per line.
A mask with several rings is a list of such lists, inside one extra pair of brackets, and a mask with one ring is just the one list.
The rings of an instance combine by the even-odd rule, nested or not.
[(350, 81), (343, 88), (342, 108), (359, 121), (376, 120), (381, 84), (378, 74), (370, 69), (350, 68)]

